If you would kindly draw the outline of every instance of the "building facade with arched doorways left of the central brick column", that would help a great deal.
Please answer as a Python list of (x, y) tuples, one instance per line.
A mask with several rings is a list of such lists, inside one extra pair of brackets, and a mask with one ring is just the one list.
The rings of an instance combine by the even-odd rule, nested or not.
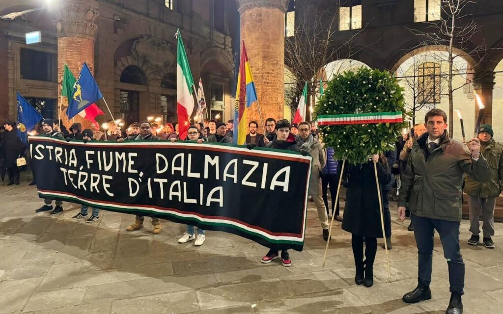
[[(64, 64), (78, 76), (87, 62), (114, 119), (176, 122), (177, 28), (195, 84), (202, 79), (208, 116), (231, 119), (234, 2), (7, 0), (0, 16), (41, 7), (0, 20), (0, 119), (15, 118), (18, 91), (44, 117), (59, 117), (58, 102), (66, 105), (59, 96)], [(25, 33), (34, 30), (42, 41), (27, 45)], [(104, 101), (98, 105), (107, 113), (101, 121), (111, 119)]]

